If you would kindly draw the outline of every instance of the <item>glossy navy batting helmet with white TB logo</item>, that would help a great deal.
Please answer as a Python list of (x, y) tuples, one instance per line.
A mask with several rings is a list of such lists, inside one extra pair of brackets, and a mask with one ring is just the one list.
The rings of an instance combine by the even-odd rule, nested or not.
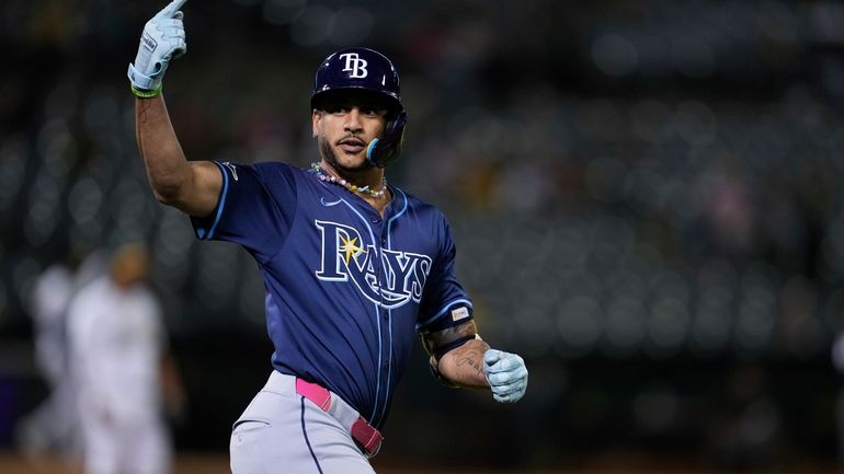
[(384, 99), (389, 111), (387, 127), (380, 139), (366, 149), (366, 159), (384, 167), (399, 158), (404, 142), (408, 114), (401, 104), (399, 72), (383, 54), (368, 48), (344, 48), (327, 57), (317, 69), (311, 108), (321, 108), (322, 102), (335, 91), (360, 90)]

